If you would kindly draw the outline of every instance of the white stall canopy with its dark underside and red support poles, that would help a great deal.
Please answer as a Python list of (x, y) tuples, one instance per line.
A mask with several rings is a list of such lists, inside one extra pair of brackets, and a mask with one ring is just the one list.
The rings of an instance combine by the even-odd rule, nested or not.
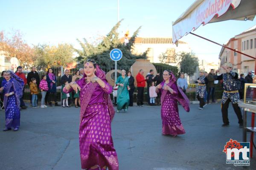
[[(255, 15), (256, 0), (196, 0), (174, 23), (172, 23), (172, 42), (178, 45), (178, 40), (189, 33), (201, 37), (191, 33), (191, 31), (195, 31), (202, 24), (206, 25), (207, 23), (225, 20), (253, 20)], [(208, 40), (204, 37), (201, 38)], [(211, 40), (208, 41), (213, 42)], [(213, 43), (221, 45), (217, 42)], [(252, 57), (225, 45), (221, 46), (255, 59), (256, 73), (256, 56)], [(252, 127), (254, 127), (254, 116), (255, 113), (252, 113)], [(253, 154), (252, 143), (253, 133), (251, 133), (250, 136), (250, 157), (252, 157)]]

